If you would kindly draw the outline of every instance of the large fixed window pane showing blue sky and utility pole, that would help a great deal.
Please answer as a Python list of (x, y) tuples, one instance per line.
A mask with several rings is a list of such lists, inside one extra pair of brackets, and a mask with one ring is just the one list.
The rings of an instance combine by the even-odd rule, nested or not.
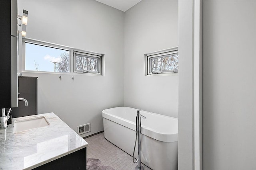
[(25, 42), (25, 70), (70, 72), (70, 51)]

